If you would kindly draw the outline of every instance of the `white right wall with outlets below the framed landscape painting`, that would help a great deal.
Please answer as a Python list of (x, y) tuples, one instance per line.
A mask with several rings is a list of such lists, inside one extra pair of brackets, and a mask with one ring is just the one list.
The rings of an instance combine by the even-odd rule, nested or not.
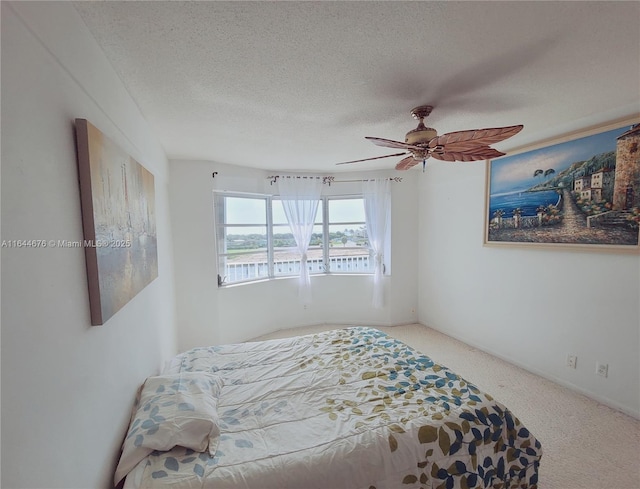
[(640, 416), (640, 256), (483, 247), (485, 165), (425, 176), (419, 321)]

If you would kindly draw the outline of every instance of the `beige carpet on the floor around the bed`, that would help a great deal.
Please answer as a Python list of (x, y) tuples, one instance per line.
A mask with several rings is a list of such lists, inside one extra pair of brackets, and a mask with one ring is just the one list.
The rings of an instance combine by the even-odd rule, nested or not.
[[(339, 327), (295, 328), (256, 339)], [(509, 407), (542, 443), (539, 489), (640, 489), (640, 421), (425, 326), (378, 329)]]

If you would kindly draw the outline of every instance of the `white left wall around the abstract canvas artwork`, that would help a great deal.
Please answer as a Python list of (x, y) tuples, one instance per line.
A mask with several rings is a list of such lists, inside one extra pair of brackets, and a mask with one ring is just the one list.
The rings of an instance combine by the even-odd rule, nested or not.
[(91, 326), (83, 249), (2, 249), (2, 487), (106, 488), (175, 354), (168, 163), (69, 2), (2, 2), (2, 239), (83, 237), (74, 119), (155, 175), (159, 276)]

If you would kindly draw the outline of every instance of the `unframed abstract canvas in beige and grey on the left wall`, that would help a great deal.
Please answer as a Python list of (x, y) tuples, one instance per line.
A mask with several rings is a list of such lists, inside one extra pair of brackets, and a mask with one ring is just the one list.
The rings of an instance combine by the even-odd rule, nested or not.
[(104, 324), (158, 276), (153, 174), (76, 119), (91, 324)]

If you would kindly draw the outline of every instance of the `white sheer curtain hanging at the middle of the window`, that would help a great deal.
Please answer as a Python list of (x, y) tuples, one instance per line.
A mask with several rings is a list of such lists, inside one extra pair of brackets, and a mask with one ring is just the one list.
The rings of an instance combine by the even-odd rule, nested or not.
[(311, 302), (311, 278), (307, 268), (307, 250), (322, 193), (322, 179), (281, 176), (278, 179), (278, 190), (287, 222), (302, 256), (298, 295), (301, 302), (307, 304)]

